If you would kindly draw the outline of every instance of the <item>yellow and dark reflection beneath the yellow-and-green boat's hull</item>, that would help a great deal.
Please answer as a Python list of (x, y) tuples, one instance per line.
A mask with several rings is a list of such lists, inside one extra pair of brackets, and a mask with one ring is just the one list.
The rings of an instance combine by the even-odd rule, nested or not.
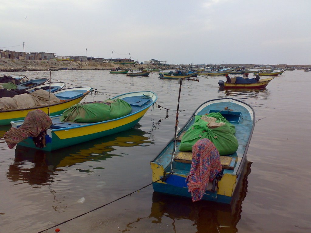
[[(112, 153), (115, 147), (147, 146), (153, 143), (146, 132), (135, 128), (95, 139), (80, 145), (75, 145), (53, 152), (16, 146), (14, 162), (9, 165), (7, 178), (12, 181), (23, 181), (30, 185), (49, 185), (53, 182), (57, 171), (62, 167), (70, 167), (86, 161), (102, 161), (113, 156), (123, 156)], [(96, 167), (93, 169), (104, 169)], [(81, 172), (91, 172), (90, 169), (78, 169)]]

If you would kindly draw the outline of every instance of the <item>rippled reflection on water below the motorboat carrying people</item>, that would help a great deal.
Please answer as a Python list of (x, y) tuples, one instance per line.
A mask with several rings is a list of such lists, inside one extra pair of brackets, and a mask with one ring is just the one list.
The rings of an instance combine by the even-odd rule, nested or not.
[(271, 92), (267, 88), (262, 89), (219, 89), (218, 98), (230, 97), (242, 100), (258, 107), (268, 107)]

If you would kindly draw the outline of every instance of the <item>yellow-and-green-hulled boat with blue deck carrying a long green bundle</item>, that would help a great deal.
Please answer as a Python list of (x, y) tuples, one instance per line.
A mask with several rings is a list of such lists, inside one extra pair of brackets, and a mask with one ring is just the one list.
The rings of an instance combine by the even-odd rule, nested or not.
[[(32, 137), (28, 137), (18, 144), (44, 151), (53, 151), (131, 129), (156, 102), (157, 95), (151, 91), (141, 91), (118, 95), (113, 99), (121, 99), (130, 104), (132, 107), (130, 113), (123, 117), (95, 123), (61, 122), (61, 115), (54, 116), (51, 117), (52, 125), (46, 130), (45, 147), (37, 148)], [(12, 121), (12, 127), (18, 128), (23, 122)]]

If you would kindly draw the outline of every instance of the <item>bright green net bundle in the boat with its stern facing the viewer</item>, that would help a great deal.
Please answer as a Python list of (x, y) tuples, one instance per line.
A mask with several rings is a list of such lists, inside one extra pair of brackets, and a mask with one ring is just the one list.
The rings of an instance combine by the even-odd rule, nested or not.
[(210, 139), (216, 146), (220, 155), (235, 153), (239, 147), (238, 140), (234, 136), (235, 126), (225, 119), (219, 112), (210, 113), (208, 117), (217, 118), (216, 122), (223, 122), (224, 125), (217, 128), (207, 127), (207, 121), (201, 119), (202, 115), (195, 116), (195, 122), (183, 135), (179, 145), (180, 151), (191, 151), (197, 140), (202, 138)]

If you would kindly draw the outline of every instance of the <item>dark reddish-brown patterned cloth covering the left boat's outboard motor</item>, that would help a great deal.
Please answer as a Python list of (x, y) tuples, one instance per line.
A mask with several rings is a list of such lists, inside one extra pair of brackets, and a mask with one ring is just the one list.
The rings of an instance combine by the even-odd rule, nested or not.
[(3, 138), (7, 146), (12, 149), (17, 143), (27, 137), (37, 137), (42, 131), (49, 129), (52, 125), (51, 118), (42, 110), (36, 109), (27, 113), (24, 123), (17, 129), (11, 127)]

